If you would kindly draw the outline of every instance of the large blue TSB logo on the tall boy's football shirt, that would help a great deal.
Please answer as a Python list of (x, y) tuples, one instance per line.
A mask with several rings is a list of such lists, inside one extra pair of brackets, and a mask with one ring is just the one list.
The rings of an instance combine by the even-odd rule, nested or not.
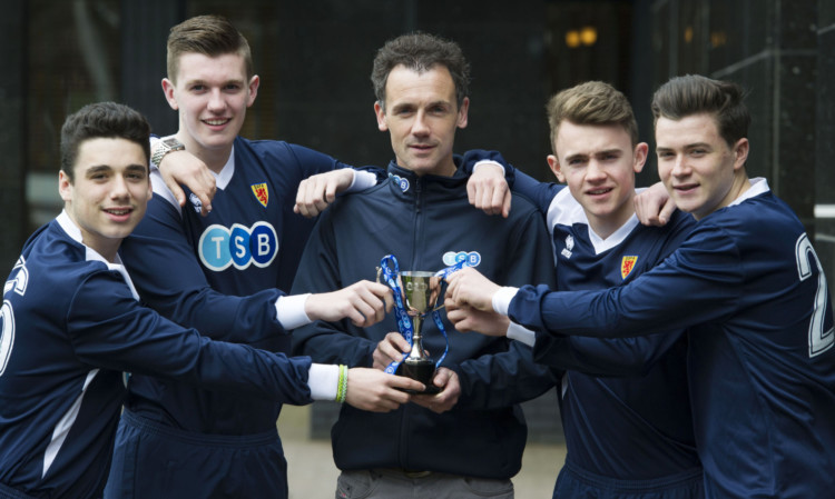
[(209, 226), (198, 244), (200, 261), (214, 271), (235, 266), (244, 270), (249, 265), (266, 267), (278, 255), (278, 237), (267, 222), (256, 222), (252, 228), (235, 223), (232, 229)]

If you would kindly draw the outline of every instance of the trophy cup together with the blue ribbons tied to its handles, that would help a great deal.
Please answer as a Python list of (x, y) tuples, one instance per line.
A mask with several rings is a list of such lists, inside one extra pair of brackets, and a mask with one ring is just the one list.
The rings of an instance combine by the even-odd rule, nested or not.
[[(431, 381), (435, 369), (441, 366), (450, 348), (446, 329), (441, 319), (440, 309), (443, 308), (444, 279), (452, 272), (466, 267), (466, 260), (462, 259), (454, 266), (446, 267), (436, 272), (424, 271), (400, 271), (397, 259), (393, 255), (383, 257), (377, 269), (377, 280), (382, 277), (394, 295), (394, 315), (400, 333), (409, 342), (410, 352), (404, 353), (401, 360), (391, 362), (385, 372), (397, 373), (401, 369), (403, 376), (416, 379), (426, 386), (429, 392), (436, 391)], [(403, 286), (401, 286), (401, 282)], [(405, 288), (405, 289), (404, 289)], [(405, 299), (405, 303), (404, 303)], [(443, 355), (438, 362), (426, 357), (421, 342), (421, 327), (423, 318), (432, 315), (438, 329), (443, 335), (446, 343)], [(401, 367), (402, 366), (402, 367)]]

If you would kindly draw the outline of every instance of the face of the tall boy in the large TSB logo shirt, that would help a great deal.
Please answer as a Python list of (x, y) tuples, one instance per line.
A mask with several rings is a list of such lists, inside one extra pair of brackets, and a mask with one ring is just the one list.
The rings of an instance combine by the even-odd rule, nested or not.
[(179, 111), (177, 137), (186, 149), (197, 156), (228, 152), (258, 83), (257, 76), (247, 80), (244, 58), (237, 53), (180, 56), (176, 83), (166, 78), (163, 90), (171, 109)]

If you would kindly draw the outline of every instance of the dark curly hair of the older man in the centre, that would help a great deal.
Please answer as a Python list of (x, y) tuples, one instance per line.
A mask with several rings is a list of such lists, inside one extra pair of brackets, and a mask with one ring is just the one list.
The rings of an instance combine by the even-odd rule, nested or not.
[(461, 47), (454, 41), (444, 40), (434, 34), (414, 32), (389, 40), (377, 50), (374, 58), (371, 81), (374, 84), (377, 102), (383, 109), (385, 109), (385, 83), (389, 81), (389, 73), (401, 64), (419, 73), (429, 71), (435, 66), (446, 68), (455, 84), (455, 100), (459, 108), (469, 94), (470, 63), (466, 62)]

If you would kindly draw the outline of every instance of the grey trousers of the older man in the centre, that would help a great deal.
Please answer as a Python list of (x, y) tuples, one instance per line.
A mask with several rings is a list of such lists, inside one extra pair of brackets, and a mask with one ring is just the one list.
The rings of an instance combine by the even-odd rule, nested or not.
[(513, 482), (395, 469), (343, 471), (336, 499), (513, 499)]

